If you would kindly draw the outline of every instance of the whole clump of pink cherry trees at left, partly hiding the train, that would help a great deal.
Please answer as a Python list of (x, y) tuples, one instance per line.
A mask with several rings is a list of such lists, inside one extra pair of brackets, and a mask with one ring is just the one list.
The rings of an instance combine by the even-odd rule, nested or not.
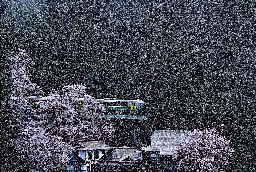
[[(113, 127), (109, 120), (97, 118), (105, 108), (89, 96), (83, 85), (69, 85), (48, 93), (45, 101), (34, 110), (29, 95), (44, 95), (30, 81), (28, 67), (34, 64), (27, 51), (19, 50), (12, 59), (11, 121), (16, 138), (13, 140), (20, 155), (21, 167), (53, 171), (67, 165), (72, 145), (80, 139), (111, 139)], [(77, 109), (75, 98), (84, 98), (85, 106)], [(87, 106), (88, 105), (88, 106)], [(80, 118), (81, 116), (95, 118)]]

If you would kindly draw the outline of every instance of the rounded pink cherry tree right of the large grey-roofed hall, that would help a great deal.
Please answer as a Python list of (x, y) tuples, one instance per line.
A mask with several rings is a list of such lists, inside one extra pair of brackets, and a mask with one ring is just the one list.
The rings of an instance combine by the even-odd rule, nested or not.
[(180, 143), (173, 158), (182, 170), (216, 172), (226, 168), (234, 158), (235, 149), (231, 145), (231, 140), (221, 136), (214, 127), (194, 130)]

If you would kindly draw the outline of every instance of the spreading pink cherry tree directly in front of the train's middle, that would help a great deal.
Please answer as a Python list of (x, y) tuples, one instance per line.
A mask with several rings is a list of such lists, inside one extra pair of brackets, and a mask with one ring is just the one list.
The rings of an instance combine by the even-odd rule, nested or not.
[[(113, 138), (113, 127), (109, 120), (99, 119), (105, 108), (94, 97), (85, 92), (83, 85), (69, 85), (49, 93), (45, 101), (38, 102), (37, 114), (44, 114), (47, 128), (53, 135), (67, 143), (83, 139)], [(84, 108), (78, 109), (75, 98), (84, 98)], [(81, 118), (90, 116), (95, 118)]]

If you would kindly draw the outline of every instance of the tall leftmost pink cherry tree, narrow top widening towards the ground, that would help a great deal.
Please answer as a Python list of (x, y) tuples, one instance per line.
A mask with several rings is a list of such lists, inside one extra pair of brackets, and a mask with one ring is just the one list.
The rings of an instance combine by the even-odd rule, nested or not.
[(34, 62), (29, 57), (27, 51), (19, 50), (11, 58), (11, 121), (16, 133), (13, 143), (20, 155), (21, 167), (53, 170), (56, 165), (68, 163), (73, 147), (49, 133), (43, 115), (36, 114), (29, 105), (28, 95), (44, 95), (41, 88), (30, 81), (28, 68)]

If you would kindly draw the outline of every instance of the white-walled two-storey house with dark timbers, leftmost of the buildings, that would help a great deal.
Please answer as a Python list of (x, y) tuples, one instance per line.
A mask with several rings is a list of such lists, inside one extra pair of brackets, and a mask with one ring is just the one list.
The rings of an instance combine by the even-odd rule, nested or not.
[(76, 151), (70, 156), (67, 172), (98, 171), (97, 164), (109, 149), (102, 140), (79, 140), (75, 145)]

